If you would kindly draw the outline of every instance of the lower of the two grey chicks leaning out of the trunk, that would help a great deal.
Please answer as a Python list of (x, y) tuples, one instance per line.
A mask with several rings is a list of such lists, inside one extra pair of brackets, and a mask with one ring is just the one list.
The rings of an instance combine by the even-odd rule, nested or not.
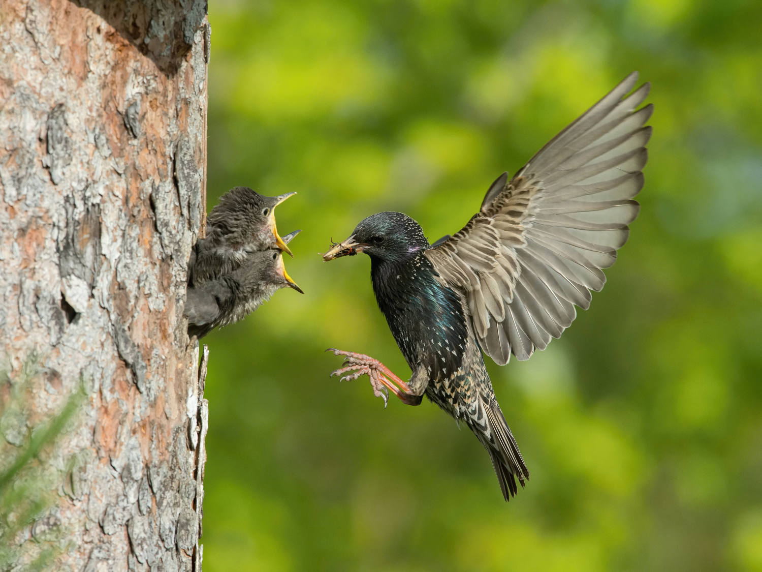
[[(299, 232), (283, 236), (283, 243), (289, 243)], [(252, 252), (232, 272), (188, 288), (183, 312), (188, 320), (188, 336), (201, 339), (217, 326), (238, 322), (286, 287), (304, 294), (286, 272), (283, 252)]]

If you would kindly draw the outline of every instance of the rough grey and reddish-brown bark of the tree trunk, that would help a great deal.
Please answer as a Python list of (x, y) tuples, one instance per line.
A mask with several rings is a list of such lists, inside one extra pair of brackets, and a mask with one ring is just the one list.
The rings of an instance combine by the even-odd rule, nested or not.
[(204, 218), (206, 13), (0, 5), (0, 353), (15, 369), (42, 356), (27, 423), (88, 393), (49, 460), (55, 570), (200, 570), (208, 414), (182, 307)]

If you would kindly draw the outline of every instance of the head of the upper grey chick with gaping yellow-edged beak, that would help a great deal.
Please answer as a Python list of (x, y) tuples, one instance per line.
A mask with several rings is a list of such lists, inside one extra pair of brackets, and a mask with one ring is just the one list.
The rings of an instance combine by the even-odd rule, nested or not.
[(251, 188), (235, 187), (219, 199), (219, 204), (207, 217), (208, 222), (223, 229), (233, 246), (246, 248), (264, 244), (293, 257), (275, 224), (275, 207), (293, 194), (296, 192), (265, 197)]

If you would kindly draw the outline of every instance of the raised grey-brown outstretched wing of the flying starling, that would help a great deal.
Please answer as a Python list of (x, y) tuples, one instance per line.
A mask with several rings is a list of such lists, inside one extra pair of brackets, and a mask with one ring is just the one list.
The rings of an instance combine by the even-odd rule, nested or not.
[(510, 182), (498, 177), (466, 227), (426, 251), (440, 281), (466, 292), (479, 344), (500, 365), (561, 336), (627, 240), (653, 111), (636, 110), (650, 84), (626, 96), (637, 79), (627, 76)]

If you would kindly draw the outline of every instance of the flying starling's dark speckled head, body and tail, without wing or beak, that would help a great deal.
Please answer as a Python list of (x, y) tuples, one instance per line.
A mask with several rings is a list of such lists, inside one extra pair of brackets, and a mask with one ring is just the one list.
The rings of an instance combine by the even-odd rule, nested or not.
[[(411, 394), (426, 396), (469, 426), (487, 449), (506, 500), (529, 478), (500, 410), (469, 323), (462, 293), (447, 288), (424, 254), (423, 230), (405, 214), (374, 214), (357, 225), (367, 243), (376, 301), (413, 376)], [(418, 400), (420, 403), (420, 399)]]

